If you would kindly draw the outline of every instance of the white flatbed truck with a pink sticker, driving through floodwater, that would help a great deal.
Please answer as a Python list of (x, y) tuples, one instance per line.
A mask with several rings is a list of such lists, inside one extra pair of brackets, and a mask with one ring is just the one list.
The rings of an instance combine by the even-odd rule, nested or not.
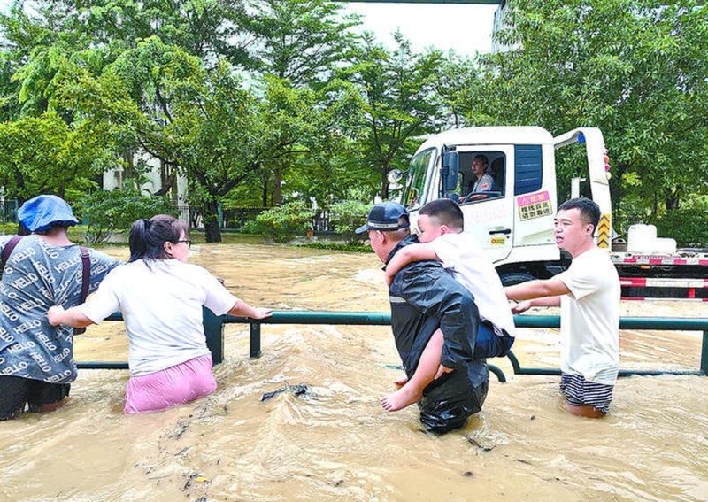
[[(558, 137), (542, 127), (469, 127), (430, 136), (412, 158), (405, 177), (399, 176), (401, 202), (414, 223), (427, 201), (458, 200), (465, 231), (488, 253), (504, 284), (548, 278), (570, 263), (566, 252), (556, 246), (553, 219), (558, 202), (563, 202), (558, 201), (556, 150), (571, 144), (584, 145), (583, 157), (587, 157), (583, 177), (573, 179), (571, 197), (578, 196), (582, 181), (589, 183), (590, 197), (602, 212), (596, 241), (618, 268), (622, 297), (708, 300), (704, 250), (677, 250), (673, 239), (658, 238), (651, 225), (631, 226), (627, 241), (614, 234), (609, 158), (596, 127), (577, 128)], [(471, 164), (477, 155), (488, 159), (488, 173), (496, 186), (487, 197), (473, 200), (467, 195), (476, 179)]]

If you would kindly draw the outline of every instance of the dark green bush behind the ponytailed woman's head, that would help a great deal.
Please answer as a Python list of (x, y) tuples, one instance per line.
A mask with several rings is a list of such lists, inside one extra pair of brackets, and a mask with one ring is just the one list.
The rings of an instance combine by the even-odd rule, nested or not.
[(96, 190), (79, 206), (83, 219), (89, 220), (86, 242), (103, 243), (116, 232), (129, 229), (135, 220), (155, 214), (173, 214), (167, 197), (143, 196), (136, 189)]

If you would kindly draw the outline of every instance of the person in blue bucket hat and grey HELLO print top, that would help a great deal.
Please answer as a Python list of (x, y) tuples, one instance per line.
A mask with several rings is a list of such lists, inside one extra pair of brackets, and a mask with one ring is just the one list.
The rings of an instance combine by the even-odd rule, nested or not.
[(67, 228), (79, 220), (61, 197), (31, 198), (17, 214), (31, 235), (0, 237), (0, 420), (65, 403), (76, 379), (73, 329), (51, 326), (47, 310), (79, 305), (121, 264), (69, 240)]

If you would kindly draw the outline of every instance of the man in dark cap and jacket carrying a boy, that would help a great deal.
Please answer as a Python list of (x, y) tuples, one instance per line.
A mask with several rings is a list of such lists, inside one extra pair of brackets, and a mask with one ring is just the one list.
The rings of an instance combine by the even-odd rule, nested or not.
[[(396, 202), (375, 205), (366, 225), (357, 228), (358, 234), (364, 232), (383, 263), (417, 242), (410, 236), (408, 212)], [(391, 328), (406, 375), (416, 371), (435, 331), (444, 334), (441, 362), (450, 372), (422, 391), (420, 421), (435, 434), (464, 427), (470, 415), (481, 410), (489, 388), (486, 362), (473, 357), (478, 313), (472, 295), (440, 263), (418, 261), (396, 274), (389, 301)]]

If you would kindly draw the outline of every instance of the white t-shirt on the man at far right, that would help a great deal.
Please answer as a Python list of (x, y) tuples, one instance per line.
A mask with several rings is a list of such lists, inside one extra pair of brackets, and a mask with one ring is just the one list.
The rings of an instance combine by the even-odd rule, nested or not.
[(588, 382), (614, 385), (620, 370), (620, 277), (604, 251), (592, 248), (554, 277), (560, 297), (560, 365)]

